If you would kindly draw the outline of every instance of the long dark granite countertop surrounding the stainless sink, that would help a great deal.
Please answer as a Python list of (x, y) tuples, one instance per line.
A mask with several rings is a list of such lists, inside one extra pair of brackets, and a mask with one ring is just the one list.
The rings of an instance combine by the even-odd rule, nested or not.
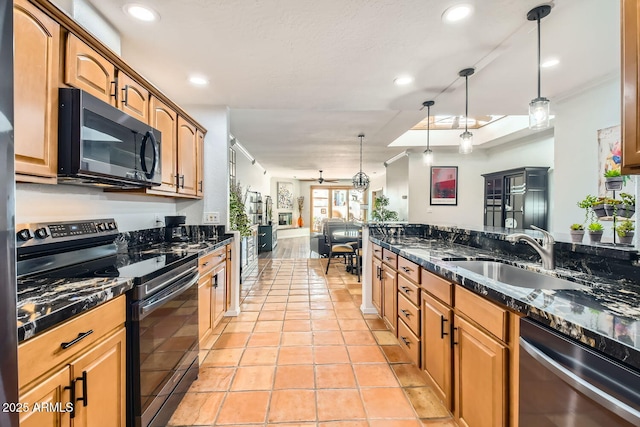
[[(475, 247), (422, 237), (371, 236), (370, 240), (473, 292), (533, 318), (565, 335), (640, 369), (640, 286), (556, 268)], [(510, 286), (448, 261), (493, 259), (586, 285), (581, 290)]]

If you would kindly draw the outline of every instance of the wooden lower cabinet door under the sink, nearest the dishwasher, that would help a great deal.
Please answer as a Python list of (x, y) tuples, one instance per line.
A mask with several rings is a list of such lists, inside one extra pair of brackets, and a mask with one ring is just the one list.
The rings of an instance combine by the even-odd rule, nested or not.
[(508, 425), (506, 345), (454, 318), (454, 416), (465, 427)]

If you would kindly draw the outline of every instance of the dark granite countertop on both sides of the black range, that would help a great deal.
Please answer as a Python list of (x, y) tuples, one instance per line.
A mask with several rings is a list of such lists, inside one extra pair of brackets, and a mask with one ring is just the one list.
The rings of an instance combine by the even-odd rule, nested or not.
[[(205, 255), (231, 243), (232, 236), (217, 240), (154, 244), (130, 248), (122, 259), (136, 260), (141, 254), (162, 255), (187, 252)], [(133, 278), (18, 278), (18, 342), (56, 326), (133, 288)]]

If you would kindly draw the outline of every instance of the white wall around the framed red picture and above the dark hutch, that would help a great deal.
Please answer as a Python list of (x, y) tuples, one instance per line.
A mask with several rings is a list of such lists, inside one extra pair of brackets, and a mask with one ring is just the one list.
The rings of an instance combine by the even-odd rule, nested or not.
[[(409, 157), (409, 221), (427, 224), (481, 227), (484, 212), (482, 174), (523, 166), (548, 166), (553, 169), (553, 138), (527, 138), (488, 150), (476, 149), (469, 155), (457, 151), (436, 151), (434, 166), (458, 167), (458, 205), (431, 206), (430, 167), (422, 162), (422, 153)], [(552, 176), (552, 175), (551, 175)], [(550, 179), (550, 191), (553, 179)]]

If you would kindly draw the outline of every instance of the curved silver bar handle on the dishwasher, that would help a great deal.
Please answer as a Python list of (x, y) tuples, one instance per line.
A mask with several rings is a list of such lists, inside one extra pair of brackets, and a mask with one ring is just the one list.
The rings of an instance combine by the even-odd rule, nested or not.
[(520, 349), (526, 351), (538, 363), (589, 399), (633, 425), (640, 426), (640, 412), (637, 409), (609, 395), (583, 378), (580, 378), (522, 337), (520, 337)]

